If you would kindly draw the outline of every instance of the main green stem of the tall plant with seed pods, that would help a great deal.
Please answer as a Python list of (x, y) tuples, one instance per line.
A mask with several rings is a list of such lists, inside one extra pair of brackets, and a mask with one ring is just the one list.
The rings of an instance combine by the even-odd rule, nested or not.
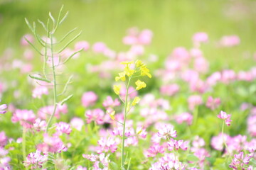
[(53, 57), (53, 35), (50, 33), (50, 52), (51, 52), (51, 60), (52, 60), (52, 68), (53, 68), (53, 100), (54, 100), (54, 108), (53, 113), (50, 115), (50, 119), (48, 120), (46, 126), (46, 132), (50, 126), (50, 122), (53, 120), (53, 116), (55, 115), (55, 111), (57, 108), (57, 87), (56, 87), (56, 76), (55, 76), (55, 65), (54, 65), (54, 57)]

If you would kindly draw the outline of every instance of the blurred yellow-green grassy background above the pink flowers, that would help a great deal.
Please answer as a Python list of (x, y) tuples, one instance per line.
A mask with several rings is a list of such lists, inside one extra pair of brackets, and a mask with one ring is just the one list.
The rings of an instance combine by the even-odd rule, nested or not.
[[(22, 35), (30, 33), (25, 17), (46, 21), (48, 11), (57, 16), (62, 4), (70, 13), (60, 35), (78, 27), (80, 40), (103, 41), (114, 50), (124, 50), (122, 37), (127, 28), (149, 28), (154, 39), (147, 52), (166, 57), (174, 47), (191, 47), (193, 33), (204, 31), (210, 38), (209, 45), (203, 47), (206, 58), (227, 62), (233, 69), (252, 65), (242, 57), (252, 56), (256, 45), (256, 1), (250, 0), (1, 0), (0, 54), (6, 47), (17, 49)], [(241, 44), (232, 52), (216, 52), (216, 42), (223, 35), (238, 35)]]

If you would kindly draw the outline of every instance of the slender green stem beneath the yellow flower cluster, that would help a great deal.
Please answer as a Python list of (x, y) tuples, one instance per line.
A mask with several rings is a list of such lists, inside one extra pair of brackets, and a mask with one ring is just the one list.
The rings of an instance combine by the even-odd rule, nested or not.
[(127, 104), (128, 104), (128, 90), (129, 90), (129, 83), (131, 81), (131, 77), (128, 79), (127, 83), (127, 91), (125, 93), (125, 101), (124, 101), (124, 123), (123, 123), (123, 132), (122, 132), (122, 162), (121, 162), (121, 169), (124, 166), (124, 134), (125, 134), (125, 121), (126, 121), (126, 115), (127, 115)]

